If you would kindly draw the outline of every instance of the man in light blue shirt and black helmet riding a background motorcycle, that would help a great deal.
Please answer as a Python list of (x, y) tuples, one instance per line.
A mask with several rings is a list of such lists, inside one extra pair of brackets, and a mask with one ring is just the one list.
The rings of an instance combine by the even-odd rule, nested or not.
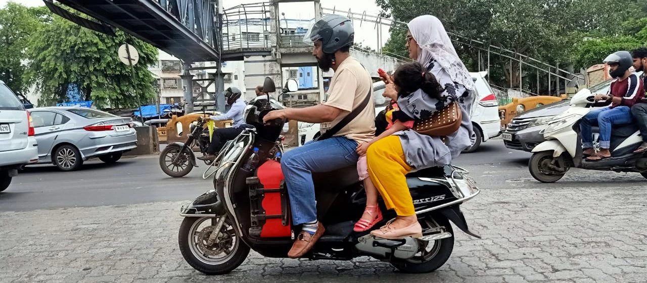
[(231, 105), (229, 111), (223, 115), (209, 116), (205, 119), (214, 121), (234, 120), (234, 124), (230, 128), (214, 130), (211, 143), (209, 143), (209, 147), (206, 150), (207, 155), (198, 157), (199, 160), (215, 160), (217, 152), (223, 148), (228, 140), (233, 140), (243, 130), (250, 127), (243, 120), (243, 112), (245, 112), (247, 103), (243, 100), (241, 91), (237, 87), (229, 87), (225, 90), (225, 103)]

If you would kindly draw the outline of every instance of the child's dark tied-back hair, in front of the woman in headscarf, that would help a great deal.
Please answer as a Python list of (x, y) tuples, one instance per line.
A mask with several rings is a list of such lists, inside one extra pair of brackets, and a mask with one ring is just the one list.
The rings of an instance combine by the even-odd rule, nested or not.
[(412, 92), (422, 89), (428, 96), (440, 99), (443, 87), (436, 77), (428, 72), (418, 62), (401, 65), (393, 74), (393, 83), (399, 87), (398, 96), (409, 96)]

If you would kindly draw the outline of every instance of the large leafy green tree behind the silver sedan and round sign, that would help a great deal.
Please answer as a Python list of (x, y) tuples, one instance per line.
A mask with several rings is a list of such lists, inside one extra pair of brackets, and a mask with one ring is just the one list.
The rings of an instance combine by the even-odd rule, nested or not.
[[(124, 43), (139, 52), (133, 68), (117, 56)], [(54, 16), (50, 25), (32, 36), (29, 46), (30, 74), (41, 92), (39, 105), (65, 101), (70, 84), (98, 107), (134, 107), (137, 95), (142, 103), (154, 97), (148, 66), (157, 61), (157, 48), (120, 30), (108, 36)]]

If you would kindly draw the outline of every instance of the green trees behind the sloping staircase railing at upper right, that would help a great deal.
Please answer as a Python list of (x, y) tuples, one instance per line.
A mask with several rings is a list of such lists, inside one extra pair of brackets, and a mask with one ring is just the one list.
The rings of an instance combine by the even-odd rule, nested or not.
[[(384, 11), (383, 16), (397, 21), (408, 22), (423, 14), (437, 16), (456, 39), (455, 47), (461, 59), (470, 70), (475, 70), (478, 49), (470, 45), (484, 48), (494, 45), (551, 65), (567, 65), (571, 63), (569, 59), (573, 58), (576, 43), (587, 34), (619, 34), (622, 30), (619, 15), (639, 15), (635, 11), (640, 1), (644, 0), (376, 0), (376, 3)], [(470, 42), (470, 39), (485, 44)], [(404, 31), (392, 28), (384, 50), (406, 54)], [(490, 64), (490, 81), (520, 87), (518, 63), (510, 67), (510, 59), (494, 56)]]

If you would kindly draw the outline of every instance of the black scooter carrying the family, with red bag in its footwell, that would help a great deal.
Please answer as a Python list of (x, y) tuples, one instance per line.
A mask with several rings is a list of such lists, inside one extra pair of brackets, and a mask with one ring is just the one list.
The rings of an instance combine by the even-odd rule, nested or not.
[[(283, 93), (294, 91), (288, 81)], [(274, 91), (266, 79), (264, 90)], [(243, 131), (223, 151), (214, 175), (214, 189), (182, 205), (179, 247), (195, 269), (224, 274), (243, 263), (253, 249), (264, 257), (287, 258), (299, 227), (291, 225), (289, 195), (281, 173), (281, 149), (276, 140), (285, 121), (263, 123), (270, 110), (282, 109), (269, 95), (252, 101), (245, 111)], [(351, 260), (369, 256), (393, 264), (400, 271), (433, 271), (454, 249), (451, 222), (468, 235), (460, 205), (479, 193), (467, 172), (454, 166), (433, 167), (407, 175), (415, 211), (422, 225), (421, 238), (386, 240), (368, 231), (355, 233), (353, 225), (366, 205), (366, 194), (355, 167), (314, 174), (318, 218), (325, 234), (304, 257), (311, 260)], [(380, 209), (386, 211), (380, 200)], [(394, 218), (388, 211), (380, 227)]]

